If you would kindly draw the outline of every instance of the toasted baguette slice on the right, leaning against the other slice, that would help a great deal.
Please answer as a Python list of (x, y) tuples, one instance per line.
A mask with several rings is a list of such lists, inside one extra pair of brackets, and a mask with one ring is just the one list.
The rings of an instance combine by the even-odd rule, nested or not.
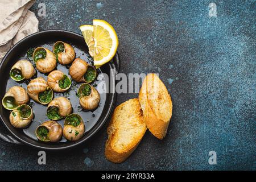
[(139, 91), (139, 102), (148, 130), (158, 139), (163, 139), (172, 117), (172, 101), (160, 78), (150, 73), (144, 78)]

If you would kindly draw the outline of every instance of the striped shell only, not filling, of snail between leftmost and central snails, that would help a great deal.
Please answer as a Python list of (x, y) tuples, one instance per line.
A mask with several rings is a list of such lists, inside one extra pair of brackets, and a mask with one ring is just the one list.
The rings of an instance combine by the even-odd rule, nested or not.
[[(49, 98), (47, 102), (40, 101), (39, 93), (42, 93), (47, 90), (50, 90), (49, 92), (51, 92), (51, 98)], [(35, 78), (34, 80), (31, 80), (30, 83), (27, 85), (27, 93), (28, 93), (28, 96), (32, 98), (32, 100), (39, 102), (40, 104), (48, 104), (49, 102), (51, 102), (53, 98), (52, 89), (49, 88), (46, 80), (44, 80), (43, 77), (38, 77), (38, 78)]]

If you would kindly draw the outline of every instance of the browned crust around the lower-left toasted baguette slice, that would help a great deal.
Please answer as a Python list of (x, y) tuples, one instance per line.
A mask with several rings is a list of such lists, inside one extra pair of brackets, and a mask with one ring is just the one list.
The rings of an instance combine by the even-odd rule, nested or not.
[[(139, 120), (139, 123), (142, 123), (142, 125), (144, 125), (142, 131), (139, 131), (141, 134), (139, 135), (139, 137), (137, 137), (136, 140), (133, 140), (132, 143), (129, 143), (129, 145), (126, 146), (126, 148), (120, 152), (115, 150), (115, 148), (113, 147), (115, 142), (114, 142), (114, 138), (115, 137), (119, 137), (118, 136), (118, 125), (115, 121), (116, 117), (117, 117), (117, 112), (126, 104), (129, 104), (129, 102), (134, 102), (135, 105), (137, 105), (136, 108), (131, 109), (132, 114), (135, 114), (137, 119)], [(128, 113), (123, 113), (123, 114), (128, 114)], [(123, 121), (126, 122), (126, 121)], [(114, 110), (114, 113), (112, 115), (112, 119), (110, 120), (109, 126), (108, 126), (108, 140), (106, 141), (106, 146), (105, 146), (105, 156), (106, 159), (110, 160), (113, 163), (122, 163), (123, 161), (125, 161), (135, 150), (135, 148), (137, 148), (138, 144), (141, 142), (144, 133), (146, 132), (147, 127), (146, 127), (146, 123), (144, 122), (144, 118), (143, 118), (143, 113), (138, 101), (138, 98), (134, 98), (131, 100), (128, 100), (126, 102), (123, 102), (121, 105), (117, 106)]]

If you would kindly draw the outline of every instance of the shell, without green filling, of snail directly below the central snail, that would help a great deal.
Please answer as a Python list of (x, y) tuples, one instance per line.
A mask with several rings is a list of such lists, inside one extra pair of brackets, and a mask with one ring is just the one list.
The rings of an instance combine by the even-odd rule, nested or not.
[(61, 119), (61, 118), (64, 118), (66, 117), (67, 115), (71, 114), (72, 113), (72, 105), (71, 105), (71, 102), (65, 98), (65, 97), (58, 97), (58, 98), (55, 98), (53, 99), (47, 106), (47, 113), (48, 111), (52, 108), (52, 107), (57, 107), (58, 109), (58, 114), (60, 116), (60, 118), (51, 118), (49, 117), (49, 115), (47, 115), (49, 117), (49, 119), (52, 119), (52, 120), (58, 120), (58, 119)]

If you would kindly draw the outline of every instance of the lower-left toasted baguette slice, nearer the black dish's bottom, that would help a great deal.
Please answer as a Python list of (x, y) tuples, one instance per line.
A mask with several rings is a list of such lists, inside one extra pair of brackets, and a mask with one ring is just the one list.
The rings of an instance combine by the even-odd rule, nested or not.
[(122, 163), (138, 146), (147, 127), (138, 98), (117, 106), (108, 126), (105, 156), (113, 163)]

